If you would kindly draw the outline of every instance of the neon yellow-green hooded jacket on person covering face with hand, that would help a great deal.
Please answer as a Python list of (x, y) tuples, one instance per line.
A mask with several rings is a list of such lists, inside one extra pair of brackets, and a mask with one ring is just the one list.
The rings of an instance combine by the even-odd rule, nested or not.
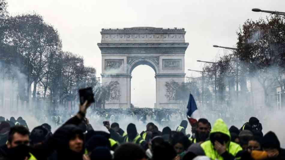
[[(226, 151), (230, 153), (231, 155), (235, 156), (239, 151), (242, 150), (241, 146), (239, 146), (237, 143), (231, 142), (231, 135), (229, 133), (228, 127), (226, 126), (225, 122), (223, 122), (222, 119), (217, 119), (210, 135), (213, 133), (222, 133), (229, 136), (229, 142), (227, 142), (227, 148)], [(218, 152), (214, 149), (214, 146), (212, 145), (210, 140), (205, 141), (201, 144), (201, 147), (203, 148), (205, 155), (211, 159), (219, 159), (223, 160), (223, 157), (218, 154)]]

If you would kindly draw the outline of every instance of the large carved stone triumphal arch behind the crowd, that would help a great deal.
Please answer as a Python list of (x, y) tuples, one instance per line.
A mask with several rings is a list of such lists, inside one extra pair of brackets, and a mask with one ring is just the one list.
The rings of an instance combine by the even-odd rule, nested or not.
[(102, 29), (100, 33), (102, 83), (110, 84), (106, 108), (130, 107), (131, 73), (138, 65), (149, 65), (155, 71), (155, 107), (179, 106), (176, 86), (184, 82), (184, 54), (189, 45), (184, 29), (133, 27)]

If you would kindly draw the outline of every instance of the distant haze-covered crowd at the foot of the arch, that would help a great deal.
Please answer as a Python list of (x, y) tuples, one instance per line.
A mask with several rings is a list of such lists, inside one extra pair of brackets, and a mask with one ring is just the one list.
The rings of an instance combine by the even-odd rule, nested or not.
[[(35, 119), (39, 123), (49, 123), (52, 127), (59, 127), (67, 121), (76, 111), (68, 110), (44, 110), (37, 112)], [(34, 116), (34, 115), (32, 115)], [(171, 128), (186, 116), (186, 113), (175, 108), (127, 108), (127, 109), (95, 109), (90, 111), (87, 116), (93, 123), (102, 123), (103, 121), (119, 122), (125, 119), (132, 119), (137, 122), (147, 123), (149, 121), (160, 125), (167, 125)]]

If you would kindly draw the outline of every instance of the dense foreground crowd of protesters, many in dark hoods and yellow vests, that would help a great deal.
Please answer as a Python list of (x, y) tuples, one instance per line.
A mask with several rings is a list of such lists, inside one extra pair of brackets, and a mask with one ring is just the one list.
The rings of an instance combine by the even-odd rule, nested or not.
[[(285, 159), (285, 150), (276, 134), (269, 131), (263, 135), (262, 124), (256, 117), (240, 128), (228, 128), (222, 119), (211, 124), (206, 117), (189, 118), (181, 120), (175, 128), (167, 126), (161, 131), (156, 125), (161, 120), (153, 119), (144, 131), (139, 131), (132, 122), (124, 130), (115, 116), (112, 122), (106, 119), (100, 122), (107, 128), (105, 132), (89, 123), (92, 119), (86, 117), (89, 105), (87, 101), (80, 105), (75, 116), (53, 133), (48, 123), (30, 131), (22, 117), (17, 120), (0, 117), (0, 160)], [(187, 133), (189, 125), (191, 132)]]

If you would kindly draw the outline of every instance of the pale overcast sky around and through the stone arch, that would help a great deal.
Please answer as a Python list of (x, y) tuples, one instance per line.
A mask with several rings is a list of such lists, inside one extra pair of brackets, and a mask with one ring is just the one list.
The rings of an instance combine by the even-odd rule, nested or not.
[[(236, 32), (247, 19), (258, 20), (266, 13), (252, 8), (285, 12), (285, 0), (7, 0), (10, 14), (35, 11), (58, 29), (63, 50), (78, 53), (85, 64), (101, 73), (102, 28), (163, 27), (185, 28), (189, 46), (185, 69), (201, 69), (196, 60), (211, 61), (223, 50), (213, 44), (233, 47)], [(185, 71), (187, 76), (199, 76)], [(153, 107), (155, 72), (146, 65), (132, 72), (131, 102), (135, 106)]]

